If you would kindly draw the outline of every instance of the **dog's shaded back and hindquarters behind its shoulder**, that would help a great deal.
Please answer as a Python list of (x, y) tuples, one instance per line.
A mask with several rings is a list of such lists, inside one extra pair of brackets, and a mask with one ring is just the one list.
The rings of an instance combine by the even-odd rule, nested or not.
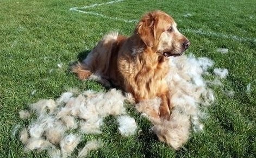
[(88, 79), (93, 73), (120, 86), (122, 78), (118, 74), (117, 56), (118, 50), (126, 39), (127, 37), (118, 35), (116, 32), (105, 35), (83, 62), (72, 67), (72, 72), (77, 73), (81, 80)]

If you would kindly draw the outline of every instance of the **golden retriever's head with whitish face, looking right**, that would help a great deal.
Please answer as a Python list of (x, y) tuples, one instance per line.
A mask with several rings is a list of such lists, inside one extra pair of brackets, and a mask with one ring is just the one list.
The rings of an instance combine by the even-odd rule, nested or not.
[(188, 49), (190, 42), (182, 35), (173, 18), (163, 11), (149, 12), (138, 23), (135, 34), (159, 55), (179, 56)]

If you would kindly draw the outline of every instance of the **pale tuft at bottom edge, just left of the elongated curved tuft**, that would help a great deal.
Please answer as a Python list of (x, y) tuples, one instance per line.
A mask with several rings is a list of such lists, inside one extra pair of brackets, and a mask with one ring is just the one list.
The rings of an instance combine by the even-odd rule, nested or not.
[(80, 136), (69, 134), (60, 141), (60, 148), (63, 157), (67, 157), (72, 153), (74, 148), (77, 147), (80, 142)]

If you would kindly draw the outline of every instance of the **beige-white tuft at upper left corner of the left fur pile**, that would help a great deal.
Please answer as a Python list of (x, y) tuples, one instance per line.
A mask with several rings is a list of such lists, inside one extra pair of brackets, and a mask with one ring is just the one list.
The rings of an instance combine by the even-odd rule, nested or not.
[(42, 99), (30, 105), (30, 109), (36, 110), (36, 113), (38, 113), (38, 115), (45, 113), (47, 109), (50, 113), (52, 113), (54, 112), (56, 107), (57, 105), (55, 104), (55, 101), (53, 99)]

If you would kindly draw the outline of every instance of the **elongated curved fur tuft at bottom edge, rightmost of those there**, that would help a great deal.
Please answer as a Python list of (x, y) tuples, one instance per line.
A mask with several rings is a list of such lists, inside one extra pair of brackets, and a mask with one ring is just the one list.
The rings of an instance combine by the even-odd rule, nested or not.
[(98, 148), (101, 148), (102, 144), (99, 141), (93, 140), (89, 141), (85, 144), (84, 148), (78, 153), (78, 158), (79, 157), (86, 157), (91, 150), (96, 150)]

